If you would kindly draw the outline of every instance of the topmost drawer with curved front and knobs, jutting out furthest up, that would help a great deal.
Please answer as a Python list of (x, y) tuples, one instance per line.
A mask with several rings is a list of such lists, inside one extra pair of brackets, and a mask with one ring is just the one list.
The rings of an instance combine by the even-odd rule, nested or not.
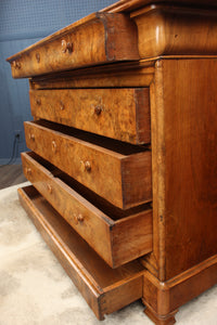
[(14, 78), (128, 60), (139, 60), (137, 27), (118, 13), (91, 14), (8, 58)]

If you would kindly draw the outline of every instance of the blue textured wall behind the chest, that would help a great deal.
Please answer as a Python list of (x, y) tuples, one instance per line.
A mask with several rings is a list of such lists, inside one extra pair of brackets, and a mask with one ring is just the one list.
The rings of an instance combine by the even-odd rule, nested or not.
[(30, 120), (28, 80), (11, 77), (5, 58), (39, 39), (95, 12), (115, 0), (0, 0), (0, 165), (12, 155), (21, 130), (15, 162), (26, 151), (23, 122)]

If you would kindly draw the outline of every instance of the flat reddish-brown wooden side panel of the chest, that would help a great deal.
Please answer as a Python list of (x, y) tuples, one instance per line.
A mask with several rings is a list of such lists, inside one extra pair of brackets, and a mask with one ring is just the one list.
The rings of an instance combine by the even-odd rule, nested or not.
[(217, 252), (217, 60), (163, 61), (166, 278)]

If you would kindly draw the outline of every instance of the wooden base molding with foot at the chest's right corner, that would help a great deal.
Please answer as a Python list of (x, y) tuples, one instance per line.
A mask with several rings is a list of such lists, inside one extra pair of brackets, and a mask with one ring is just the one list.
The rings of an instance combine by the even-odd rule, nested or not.
[(157, 325), (174, 324), (177, 309), (217, 283), (217, 255), (179, 275), (161, 282), (149, 271), (143, 275), (145, 314)]

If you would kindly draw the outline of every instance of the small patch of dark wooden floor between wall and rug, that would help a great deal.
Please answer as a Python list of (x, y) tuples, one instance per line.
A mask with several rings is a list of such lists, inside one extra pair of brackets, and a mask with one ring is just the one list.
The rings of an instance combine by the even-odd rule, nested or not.
[(0, 166), (0, 190), (26, 182), (22, 165)]

